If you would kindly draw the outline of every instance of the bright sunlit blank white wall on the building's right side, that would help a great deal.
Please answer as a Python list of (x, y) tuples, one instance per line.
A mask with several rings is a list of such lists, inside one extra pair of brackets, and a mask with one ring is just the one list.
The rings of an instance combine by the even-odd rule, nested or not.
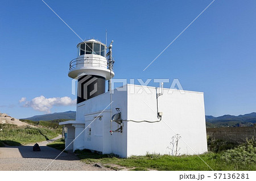
[[(128, 120), (155, 121), (156, 89), (148, 87), (138, 94), (142, 86), (128, 85)], [(174, 90), (159, 96), (159, 112), (163, 112), (159, 123), (128, 122), (127, 156), (145, 155), (146, 153), (171, 154), (171, 137), (180, 134), (180, 154), (201, 154), (207, 151), (205, 128), (204, 94), (202, 92)], [(134, 94), (130, 94), (130, 92)], [(140, 92), (139, 92), (140, 93)]]

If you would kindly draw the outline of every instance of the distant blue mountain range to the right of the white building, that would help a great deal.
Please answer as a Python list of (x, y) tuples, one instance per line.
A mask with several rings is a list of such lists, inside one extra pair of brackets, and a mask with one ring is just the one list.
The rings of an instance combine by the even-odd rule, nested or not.
[(205, 116), (207, 128), (214, 127), (250, 127), (256, 123), (256, 112), (245, 115)]

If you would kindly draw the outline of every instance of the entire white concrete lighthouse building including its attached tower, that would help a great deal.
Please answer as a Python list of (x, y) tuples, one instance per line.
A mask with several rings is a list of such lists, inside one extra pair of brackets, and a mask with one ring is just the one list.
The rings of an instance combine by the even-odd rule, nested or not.
[[(106, 46), (96, 40), (85, 41), (85, 49), (87, 43), (93, 43), (90, 48), (96, 56), (94, 44), (101, 44), (106, 50)], [(69, 77), (78, 77), (77, 92), (82, 99), (77, 99), (76, 120), (60, 123), (68, 128), (65, 140), (68, 150), (90, 149), (125, 158), (147, 153), (175, 155), (176, 144), (170, 142), (172, 137), (179, 134), (181, 138), (177, 144), (177, 154), (201, 154), (207, 151), (203, 92), (124, 85), (121, 90), (114, 89), (110, 98), (109, 91), (104, 93), (100, 90), (98, 93), (98, 87), (110, 79), (110, 74), (114, 76), (112, 46), (109, 47), (108, 61), (106, 53), (102, 52), (102, 56), (98, 55), (102, 62), (97, 59), (95, 63), (94, 57), (89, 65), (89, 57), (95, 55), (87, 56), (86, 50), (82, 54), (81, 44), (78, 45), (78, 60), (73, 61), (75, 65), (71, 62)], [(94, 77), (100, 77), (100, 80), (90, 81)], [(104, 81), (101, 81), (101, 77)], [(102, 87), (105, 89), (105, 85)]]

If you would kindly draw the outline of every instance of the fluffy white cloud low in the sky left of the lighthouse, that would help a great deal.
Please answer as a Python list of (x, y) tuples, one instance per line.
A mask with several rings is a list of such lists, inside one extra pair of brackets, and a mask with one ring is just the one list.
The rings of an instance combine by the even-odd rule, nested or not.
[[(20, 99), (22, 100), (22, 99)], [(23, 106), (32, 107), (36, 111), (51, 112), (53, 106), (72, 106), (76, 104), (76, 99), (72, 100), (68, 96), (62, 98), (45, 98), (43, 95), (27, 101)]]

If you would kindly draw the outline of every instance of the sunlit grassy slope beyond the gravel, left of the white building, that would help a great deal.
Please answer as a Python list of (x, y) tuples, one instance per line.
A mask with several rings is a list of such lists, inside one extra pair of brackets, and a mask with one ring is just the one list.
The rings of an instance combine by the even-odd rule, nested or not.
[(50, 140), (60, 134), (59, 129), (18, 127), (13, 124), (0, 124), (0, 141), (10, 146), (20, 146), (30, 143)]

